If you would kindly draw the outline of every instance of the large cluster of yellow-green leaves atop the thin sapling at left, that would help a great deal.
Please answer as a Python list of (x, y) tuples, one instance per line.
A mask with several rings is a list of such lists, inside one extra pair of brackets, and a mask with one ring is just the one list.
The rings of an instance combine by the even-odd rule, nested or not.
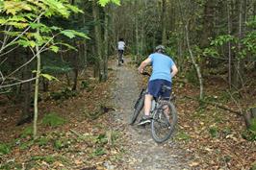
[[(84, 33), (63, 30), (57, 26), (47, 26), (37, 22), (40, 17), (61, 16), (68, 18), (71, 12), (82, 12), (65, 0), (10, 0), (0, 4), (0, 9), (2, 10), (1, 25), (16, 28), (12, 31), (4, 31), (5, 35), (12, 36), (15, 40), (8, 43), (1, 50), (15, 44), (24, 48), (35, 48), (36, 45), (43, 46), (47, 44), (49, 46), (48, 50), (57, 53), (59, 51), (58, 45), (60, 44), (55, 42), (54, 39), (58, 35), (64, 35), (69, 38), (75, 36), (89, 38)], [(40, 34), (36, 33), (36, 29)], [(70, 48), (70, 45), (67, 45), (67, 47)]]

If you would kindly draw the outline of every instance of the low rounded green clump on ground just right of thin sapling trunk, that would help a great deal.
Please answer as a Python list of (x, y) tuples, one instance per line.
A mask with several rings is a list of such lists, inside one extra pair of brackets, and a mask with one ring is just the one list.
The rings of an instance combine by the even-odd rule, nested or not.
[(43, 116), (42, 118), (42, 124), (51, 126), (51, 127), (57, 127), (64, 125), (65, 120), (64, 118), (60, 117), (58, 114), (54, 112), (50, 112)]

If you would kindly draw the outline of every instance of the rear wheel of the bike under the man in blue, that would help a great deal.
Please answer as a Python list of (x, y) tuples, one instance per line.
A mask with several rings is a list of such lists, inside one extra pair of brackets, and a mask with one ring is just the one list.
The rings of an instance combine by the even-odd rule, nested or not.
[(169, 139), (177, 123), (177, 111), (174, 105), (164, 101), (156, 109), (151, 122), (151, 134), (153, 139), (162, 143)]

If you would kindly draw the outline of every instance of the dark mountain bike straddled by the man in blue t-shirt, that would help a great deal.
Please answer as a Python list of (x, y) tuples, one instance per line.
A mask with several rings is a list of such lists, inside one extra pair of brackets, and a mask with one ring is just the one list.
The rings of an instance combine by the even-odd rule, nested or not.
[[(143, 75), (150, 76), (148, 73)], [(162, 90), (171, 90), (169, 86), (162, 85)], [(144, 106), (144, 97), (147, 89), (142, 88), (139, 98), (134, 106), (134, 112), (131, 116), (130, 125), (134, 125), (141, 109)], [(177, 111), (174, 106), (175, 95), (171, 94), (170, 98), (158, 97), (152, 100), (150, 116), (151, 116), (151, 135), (157, 143), (165, 142), (174, 131), (177, 124)]]

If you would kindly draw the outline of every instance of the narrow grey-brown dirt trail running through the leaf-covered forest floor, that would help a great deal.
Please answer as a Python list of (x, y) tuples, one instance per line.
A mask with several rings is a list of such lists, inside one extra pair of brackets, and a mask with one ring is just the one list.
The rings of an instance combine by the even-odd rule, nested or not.
[(129, 116), (133, 112), (133, 105), (137, 99), (140, 88), (136, 68), (124, 64), (117, 67), (114, 63), (112, 68), (116, 72), (113, 98), (115, 102), (115, 122), (118, 129), (123, 130), (126, 136), (125, 143), (128, 151), (123, 158), (123, 169), (161, 169), (182, 170), (189, 169), (186, 160), (186, 151), (180, 149), (171, 139), (164, 144), (157, 144), (150, 135), (150, 127), (145, 128), (129, 126)]

